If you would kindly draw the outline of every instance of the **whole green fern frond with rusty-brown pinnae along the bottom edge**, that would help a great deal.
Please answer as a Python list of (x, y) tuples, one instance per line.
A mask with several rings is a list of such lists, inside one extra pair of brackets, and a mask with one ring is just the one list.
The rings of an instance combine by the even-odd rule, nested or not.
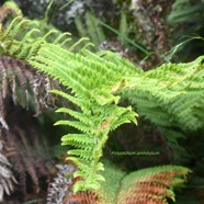
[(102, 174), (106, 182), (102, 183), (101, 190), (77, 194), (68, 190), (64, 196), (65, 203), (167, 204), (167, 199), (175, 200), (173, 189), (181, 186), (191, 172), (183, 167), (163, 166), (126, 173), (107, 161), (104, 165), (105, 171)]

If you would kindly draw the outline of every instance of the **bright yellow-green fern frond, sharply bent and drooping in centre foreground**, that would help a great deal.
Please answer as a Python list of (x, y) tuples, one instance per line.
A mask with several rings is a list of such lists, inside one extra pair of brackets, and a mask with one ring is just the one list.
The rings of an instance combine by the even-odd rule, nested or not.
[[(173, 71), (174, 68), (178, 72), (182, 71), (182, 66), (170, 64), (168, 69), (144, 72), (111, 52), (93, 54), (83, 47), (75, 53), (83, 38), (67, 48), (66, 42), (69, 41), (67, 33), (59, 34), (53, 43), (48, 43), (46, 38), (56, 31), (52, 30), (45, 36), (41, 36), (41, 33), (37, 35), (36, 29), (24, 30), (22, 26), (26, 23), (30, 22), (18, 18), (5, 32), (1, 31), (0, 54), (25, 60), (67, 88), (67, 92), (60, 90), (52, 92), (76, 105), (75, 110), (58, 109), (57, 112), (72, 117), (56, 123), (77, 129), (76, 134), (68, 134), (61, 138), (63, 145), (73, 147), (68, 151), (67, 158), (78, 167), (73, 177), (79, 180), (73, 185), (73, 192), (99, 190), (103, 183), (101, 181), (104, 181), (102, 175), (104, 167), (100, 159), (109, 133), (124, 123), (137, 123), (137, 113), (131, 106), (118, 105), (121, 99), (118, 94), (129, 99), (129, 92), (138, 93), (138, 100), (149, 99), (148, 97), (152, 95), (158, 99), (158, 103), (162, 101), (163, 105), (168, 105), (169, 101), (165, 102), (165, 99), (171, 99), (173, 103), (175, 97), (182, 95), (184, 91), (188, 92), (188, 84), (194, 78), (189, 78), (191, 72), (183, 72), (181, 81), (186, 86), (181, 86), (173, 92), (173, 86), (178, 83), (175, 78), (170, 78), (172, 80), (167, 83), (165, 77), (168, 70)], [(201, 68), (194, 67), (196, 70)], [(168, 94), (169, 90), (171, 94)], [(133, 101), (133, 104), (137, 105), (137, 102)], [(152, 107), (152, 101), (147, 104)], [(140, 103), (140, 106), (144, 105), (145, 110), (147, 104)]]

